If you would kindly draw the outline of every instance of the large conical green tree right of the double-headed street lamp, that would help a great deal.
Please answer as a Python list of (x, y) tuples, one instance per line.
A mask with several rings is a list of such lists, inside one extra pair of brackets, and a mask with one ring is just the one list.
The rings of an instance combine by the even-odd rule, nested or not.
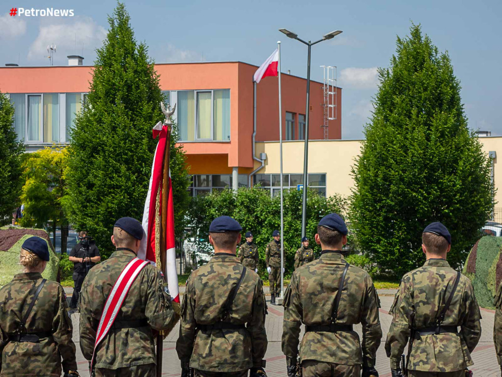
[(412, 25), (397, 39), (366, 139), (352, 170), (358, 241), (380, 267), (402, 274), (424, 262), (421, 234), (441, 221), (458, 267), (489, 218), (490, 161), (467, 127), (448, 54)]

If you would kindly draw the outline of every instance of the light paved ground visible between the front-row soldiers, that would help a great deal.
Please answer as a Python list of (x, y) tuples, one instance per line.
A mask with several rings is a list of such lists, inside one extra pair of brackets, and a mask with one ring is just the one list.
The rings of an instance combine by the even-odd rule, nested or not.
[[(68, 293), (69, 290), (67, 291)], [(376, 369), (379, 371), (381, 377), (391, 377), (389, 367), (389, 360), (385, 354), (384, 343), (387, 336), (387, 330), (391, 325), (391, 316), (388, 310), (392, 305), (393, 291), (383, 290), (379, 291), (382, 301), (382, 309), (380, 310), (380, 320), (382, 322), (382, 329), (384, 331), (384, 338), (382, 345), (378, 350), (376, 356)], [(272, 306), (269, 303), (269, 315), (267, 317), (267, 335), (269, 339), (269, 346), (267, 349), (267, 374), (269, 377), (284, 377), (286, 374), (286, 361), (283, 353), (281, 352), (281, 334), (282, 334), (282, 321), (284, 311), (281, 306)], [(494, 377), (500, 375), (500, 368), (497, 364), (495, 357), (495, 349), (493, 347), (492, 329), (494, 312), (482, 309), (483, 319), (481, 321), (483, 333), (478, 346), (472, 353), (474, 365), (472, 370), (475, 376), (480, 377)], [(83, 358), (78, 346), (78, 314), (72, 315), (74, 324), (73, 340), (77, 345), (77, 362), (79, 365), (79, 372), (82, 377), (87, 377), (87, 361)], [(356, 330), (360, 334), (360, 326), (356, 326)], [(164, 376), (178, 376), (181, 373), (180, 363), (176, 355), (176, 339), (178, 336), (178, 326), (164, 341), (164, 362), (163, 362), (163, 375)]]

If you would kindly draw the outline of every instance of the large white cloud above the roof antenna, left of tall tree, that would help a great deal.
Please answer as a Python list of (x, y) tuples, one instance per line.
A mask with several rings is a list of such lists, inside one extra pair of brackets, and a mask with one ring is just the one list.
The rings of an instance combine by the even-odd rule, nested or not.
[(58, 60), (61, 56), (81, 54), (82, 46), (84, 51), (94, 51), (105, 38), (106, 30), (90, 17), (41, 23), (38, 36), (28, 51), (28, 59), (39, 60), (47, 56), (47, 45), (51, 44), (55, 44), (57, 51), (62, 53), (56, 52)]

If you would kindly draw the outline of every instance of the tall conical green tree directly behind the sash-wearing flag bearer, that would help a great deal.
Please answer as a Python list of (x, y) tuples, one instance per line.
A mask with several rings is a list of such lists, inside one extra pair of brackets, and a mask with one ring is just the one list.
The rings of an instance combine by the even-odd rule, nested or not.
[[(164, 115), (159, 75), (145, 43), (138, 44), (123, 4), (111, 17), (106, 40), (97, 50), (83, 111), (75, 119), (67, 173), (70, 220), (88, 230), (109, 255), (115, 220), (141, 221), (157, 140), (152, 127)], [(183, 228), (188, 206), (188, 174), (181, 148), (171, 142), (175, 222)]]

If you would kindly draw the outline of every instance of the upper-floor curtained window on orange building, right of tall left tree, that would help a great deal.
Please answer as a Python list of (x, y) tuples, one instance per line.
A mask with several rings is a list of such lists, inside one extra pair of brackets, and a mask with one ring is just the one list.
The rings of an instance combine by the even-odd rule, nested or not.
[(230, 140), (230, 90), (178, 90), (180, 141)]

